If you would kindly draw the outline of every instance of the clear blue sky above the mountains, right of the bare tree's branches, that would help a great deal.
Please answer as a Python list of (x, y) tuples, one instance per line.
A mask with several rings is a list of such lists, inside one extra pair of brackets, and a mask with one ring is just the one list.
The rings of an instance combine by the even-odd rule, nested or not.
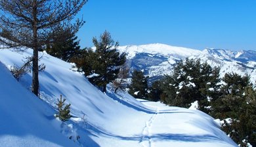
[(256, 50), (256, 0), (89, 0), (82, 47), (109, 31), (119, 44)]

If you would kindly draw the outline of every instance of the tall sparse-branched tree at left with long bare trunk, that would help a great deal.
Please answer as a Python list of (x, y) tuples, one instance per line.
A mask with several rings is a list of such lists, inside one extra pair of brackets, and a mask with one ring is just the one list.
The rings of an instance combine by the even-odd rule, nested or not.
[(72, 24), (75, 14), (87, 0), (41, 1), (2, 0), (0, 3), (0, 42), (5, 48), (32, 48), (32, 92), (39, 93), (38, 51), (49, 42), (56, 27), (77, 31), (83, 21)]

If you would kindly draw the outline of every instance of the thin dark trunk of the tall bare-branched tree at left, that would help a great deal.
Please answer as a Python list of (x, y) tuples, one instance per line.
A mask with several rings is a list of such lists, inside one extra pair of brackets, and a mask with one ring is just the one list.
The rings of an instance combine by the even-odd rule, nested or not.
[(33, 68), (32, 68), (32, 92), (38, 96), (39, 79), (38, 79), (38, 40), (37, 40), (37, 6), (36, 1), (33, 3)]

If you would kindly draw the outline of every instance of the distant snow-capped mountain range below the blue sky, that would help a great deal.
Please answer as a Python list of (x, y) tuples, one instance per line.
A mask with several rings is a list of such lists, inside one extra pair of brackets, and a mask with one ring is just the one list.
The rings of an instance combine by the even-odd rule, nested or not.
[(127, 53), (132, 70), (144, 70), (144, 74), (152, 80), (163, 74), (171, 74), (173, 65), (186, 57), (201, 59), (213, 67), (221, 67), (221, 76), (233, 72), (249, 74), (252, 82), (256, 80), (256, 52), (252, 50), (237, 52), (211, 48), (201, 51), (166, 44), (145, 44), (119, 46), (119, 51)]

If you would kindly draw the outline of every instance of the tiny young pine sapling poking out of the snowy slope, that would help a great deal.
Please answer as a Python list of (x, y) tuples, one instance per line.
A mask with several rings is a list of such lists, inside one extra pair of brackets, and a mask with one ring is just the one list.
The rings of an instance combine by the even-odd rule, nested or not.
[(60, 95), (60, 99), (58, 99), (58, 103), (56, 104), (58, 106), (58, 114), (56, 114), (56, 117), (60, 118), (62, 122), (66, 122), (71, 118), (70, 115), (70, 104), (64, 106), (66, 99), (62, 100), (62, 95)]

